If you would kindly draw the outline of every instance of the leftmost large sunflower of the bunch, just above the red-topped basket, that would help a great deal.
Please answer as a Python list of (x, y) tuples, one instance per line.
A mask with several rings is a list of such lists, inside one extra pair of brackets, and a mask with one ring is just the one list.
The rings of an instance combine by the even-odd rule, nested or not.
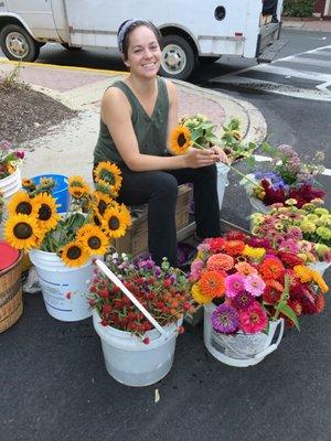
[(9, 217), (4, 227), (4, 238), (15, 249), (35, 247), (38, 237), (42, 236), (38, 222), (26, 214), (15, 214)]

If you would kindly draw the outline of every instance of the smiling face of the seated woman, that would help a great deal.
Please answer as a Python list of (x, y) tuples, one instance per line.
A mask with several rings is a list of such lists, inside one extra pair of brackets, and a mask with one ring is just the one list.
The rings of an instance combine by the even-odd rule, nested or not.
[(157, 75), (161, 62), (161, 49), (153, 31), (148, 26), (136, 28), (129, 34), (128, 58), (125, 61), (130, 73), (142, 77)]

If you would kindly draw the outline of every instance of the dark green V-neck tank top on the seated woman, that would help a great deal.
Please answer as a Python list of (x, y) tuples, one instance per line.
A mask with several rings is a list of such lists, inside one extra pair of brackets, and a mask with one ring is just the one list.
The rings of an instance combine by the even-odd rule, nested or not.
[[(146, 112), (130, 87), (121, 82), (115, 82), (110, 87), (118, 87), (128, 98), (132, 116), (131, 121), (138, 140), (139, 151), (142, 154), (164, 157), (167, 151), (167, 129), (169, 114), (169, 98), (163, 78), (158, 77), (158, 96), (151, 117)], [(124, 164), (108, 127), (100, 119), (100, 130), (94, 150), (94, 162), (111, 161)]]

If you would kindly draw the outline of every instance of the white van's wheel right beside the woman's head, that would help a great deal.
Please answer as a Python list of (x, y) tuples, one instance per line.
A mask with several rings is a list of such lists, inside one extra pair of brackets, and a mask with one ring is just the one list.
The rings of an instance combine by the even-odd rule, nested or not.
[(161, 44), (160, 75), (173, 79), (186, 79), (196, 64), (191, 44), (180, 35), (164, 35)]

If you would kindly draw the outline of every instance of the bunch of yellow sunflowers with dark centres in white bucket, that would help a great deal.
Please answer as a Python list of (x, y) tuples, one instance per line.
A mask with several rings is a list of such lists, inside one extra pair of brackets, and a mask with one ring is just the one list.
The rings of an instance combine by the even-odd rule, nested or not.
[(17, 249), (56, 252), (68, 267), (84, 265), (90, 256), (104, 255), (114, 238), (126, 234), (131, 219), (128, 208), (115, 201), (121, 184), (119, 169), (100, 162), (95, 178), (95, 191), (82, 176), (68, 179), (71, 203), (62, 216), (52, 196), (53, 179), (43, 178), (39, 185), (23, 180), (23, 191), (9, 204), (7, 241)]

